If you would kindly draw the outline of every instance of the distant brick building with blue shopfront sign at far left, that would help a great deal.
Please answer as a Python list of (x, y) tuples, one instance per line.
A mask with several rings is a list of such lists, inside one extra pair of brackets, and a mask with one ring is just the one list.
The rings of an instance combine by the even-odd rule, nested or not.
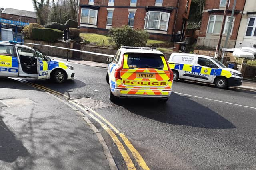
[(0, 17), (0, 40), (21, 42), (23, 27), (36, 22), (36, 12), (5, 8)]

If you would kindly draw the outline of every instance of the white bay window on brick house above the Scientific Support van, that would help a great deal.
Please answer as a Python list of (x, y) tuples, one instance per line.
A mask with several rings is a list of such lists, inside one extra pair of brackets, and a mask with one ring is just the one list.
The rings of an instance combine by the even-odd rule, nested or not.
[[(220, 30), (221, 30), (221, 26), (222, 26), (222, 20), (223, 20), (223, 16), (219, 16), (219, 15), (210, 16), (209, 22), (208, 22), (208, 27), (207, 27), (207, 33), (219, 34)], [(225, 21), (224, 31), (223, 31), (224, 34), (228, 33), (230, 20), (231, 20), (231, 17), (227, 16), (226, 21)], [(233, 26), (234, 26), (234, 18), (233, 18), (231, 24), (232, 25), (231, 25), (230, 35), (232, 34), (232, 30), (233, 30)]]

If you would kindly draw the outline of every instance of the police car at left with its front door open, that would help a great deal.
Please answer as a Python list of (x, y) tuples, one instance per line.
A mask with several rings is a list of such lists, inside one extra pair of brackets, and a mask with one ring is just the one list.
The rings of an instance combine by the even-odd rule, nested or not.
[(0, 77), (46, 78), (62, 83), (75, 73), (70, 64), (50, 59), (38, 49), (0, 41)]

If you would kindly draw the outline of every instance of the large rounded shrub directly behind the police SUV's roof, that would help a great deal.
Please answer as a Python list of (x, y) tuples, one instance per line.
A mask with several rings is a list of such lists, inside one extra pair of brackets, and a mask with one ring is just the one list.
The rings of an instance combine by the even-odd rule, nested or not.
[(110, 29), (110, 43), (114, 42), (116, 47), (122, 45), (134, 46), (139, 45), (145, 47), (148, 41), (149, 34), (144, 30), (134, 30), (128, 26)]

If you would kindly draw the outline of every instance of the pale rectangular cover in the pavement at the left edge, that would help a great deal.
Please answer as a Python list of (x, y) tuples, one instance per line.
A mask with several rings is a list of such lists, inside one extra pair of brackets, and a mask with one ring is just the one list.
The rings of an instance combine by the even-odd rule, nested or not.
[(7, 107), (12, 106), (24, 106), (24, 105), (32, 105), (36, 104), (36, 102), (28, 99), (28, 98), (18, 98), (18, 99), (1, 99), (0, 103), (3, 103)]

